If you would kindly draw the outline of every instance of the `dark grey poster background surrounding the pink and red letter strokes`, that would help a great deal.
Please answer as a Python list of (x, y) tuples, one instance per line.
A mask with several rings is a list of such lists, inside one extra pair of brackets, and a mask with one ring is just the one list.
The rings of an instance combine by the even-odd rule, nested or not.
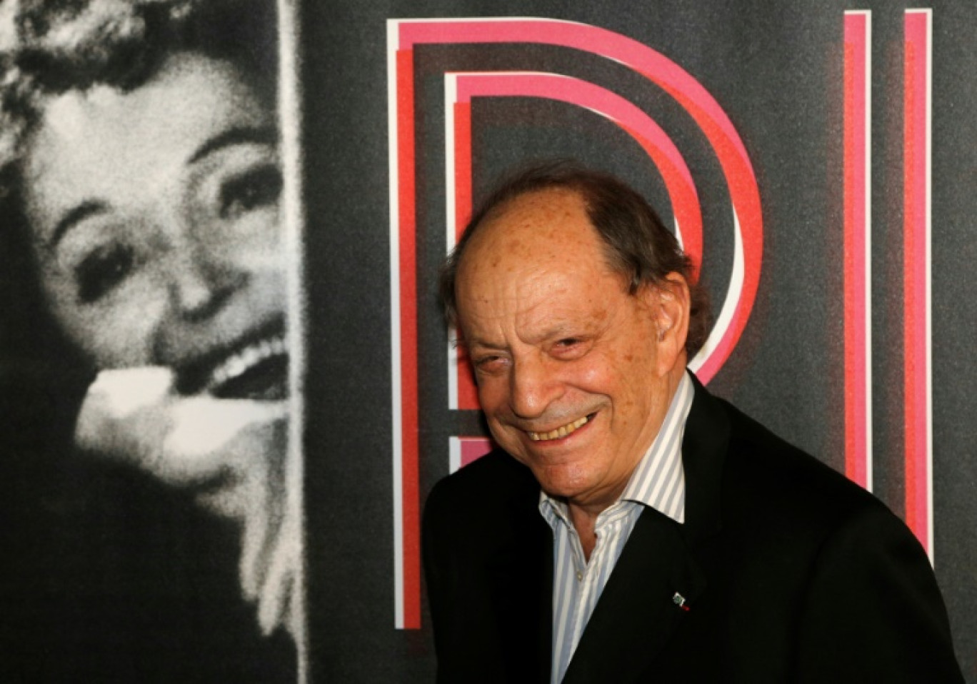
[[(302, 11), (309, 219), (309, 615), (316, 681), (426, 682), (429, 625), (394, 629), (390, 381), (388, 18), (545, 17), (634, 38), (689, 71), (729, 114), (759, 184), (760, 288), (743, 338), (710, 385), (835, 467), (843, 466), (841, 261), (842, 22), (872, 10), (872, 335), (875, 492), (903, 509), (903, 11), (893, 2), (314, 2)], [(972, 237), (977, 161), (977, 7), (933, 2), (932, 325), (936, 571), (968, 682), (977, 682), (977, 484), (971, 388), (977, 321)], [(645, 108), (693, 170), (704, 273), (717, 304), (730, 264), (721, 172), (695, 124), (626, 68), (557, 48), (429, 47), (415, 53), (422, 495), (446, 474), (446, 411), (432, 283), (444, 233), (446, 68), (572, 73)], [(663, 193), (640, 150), (573, 107), (513, 99), (473, 107), (476, 195), (528, 155), (572, 154)], [(667, 213), (667, 204), (664, 205)], [(435, 359), (435, 362), (437, 359)], [(425, 373), (425, 370), (428, 372)]]

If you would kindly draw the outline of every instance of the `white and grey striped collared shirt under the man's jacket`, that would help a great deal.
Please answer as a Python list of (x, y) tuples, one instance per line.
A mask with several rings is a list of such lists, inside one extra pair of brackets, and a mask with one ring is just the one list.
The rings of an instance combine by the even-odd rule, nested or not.
[(589, 563), (583, 558), (567, 503), (540, 492), (539, 512), (553, 529), (552, 684), (563, 680), (583, 628), (644, 507), (651, 506), (678, 523), (685, 520), (682, 436), (693, 392), (692, 380), (684, 374), (655, 442), (631, 473), (620, 497), (597, 516), (597, 543)]

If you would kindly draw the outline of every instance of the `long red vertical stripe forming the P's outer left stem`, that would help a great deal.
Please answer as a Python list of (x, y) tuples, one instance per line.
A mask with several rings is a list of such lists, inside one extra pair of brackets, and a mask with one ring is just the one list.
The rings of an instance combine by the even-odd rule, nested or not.
[(420, 489), (417, 412), (417, 263), (414, 179), (413, 53), (397, 53), (398, 213), (401, 268), (401, 440), (403, 456), (404, 627), (421, 625)]

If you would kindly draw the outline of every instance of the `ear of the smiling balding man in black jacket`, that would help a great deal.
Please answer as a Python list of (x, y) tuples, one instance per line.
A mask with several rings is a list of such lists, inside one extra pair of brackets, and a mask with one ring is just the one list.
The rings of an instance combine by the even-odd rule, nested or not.
[(642, 287), (640, 295), (655, 324), (658, 345), (658, 374), (666, 375), (676, 365), (688, 361), (685, 340), (689, 334), (689, 283), (678, 273), (670, 273), (654, 284)]

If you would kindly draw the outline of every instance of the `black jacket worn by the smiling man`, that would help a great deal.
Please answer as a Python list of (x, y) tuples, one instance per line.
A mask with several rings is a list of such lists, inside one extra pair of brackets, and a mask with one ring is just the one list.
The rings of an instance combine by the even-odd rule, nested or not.
[[(685, 524), (642, 513), (566, 684), (962, 682), (928, 559), (871, 494), (698, 382), (682, 459)], [(501, 451), (431, 493), (440, 682), (549, 681), (552, 534), (538, 496)]]

